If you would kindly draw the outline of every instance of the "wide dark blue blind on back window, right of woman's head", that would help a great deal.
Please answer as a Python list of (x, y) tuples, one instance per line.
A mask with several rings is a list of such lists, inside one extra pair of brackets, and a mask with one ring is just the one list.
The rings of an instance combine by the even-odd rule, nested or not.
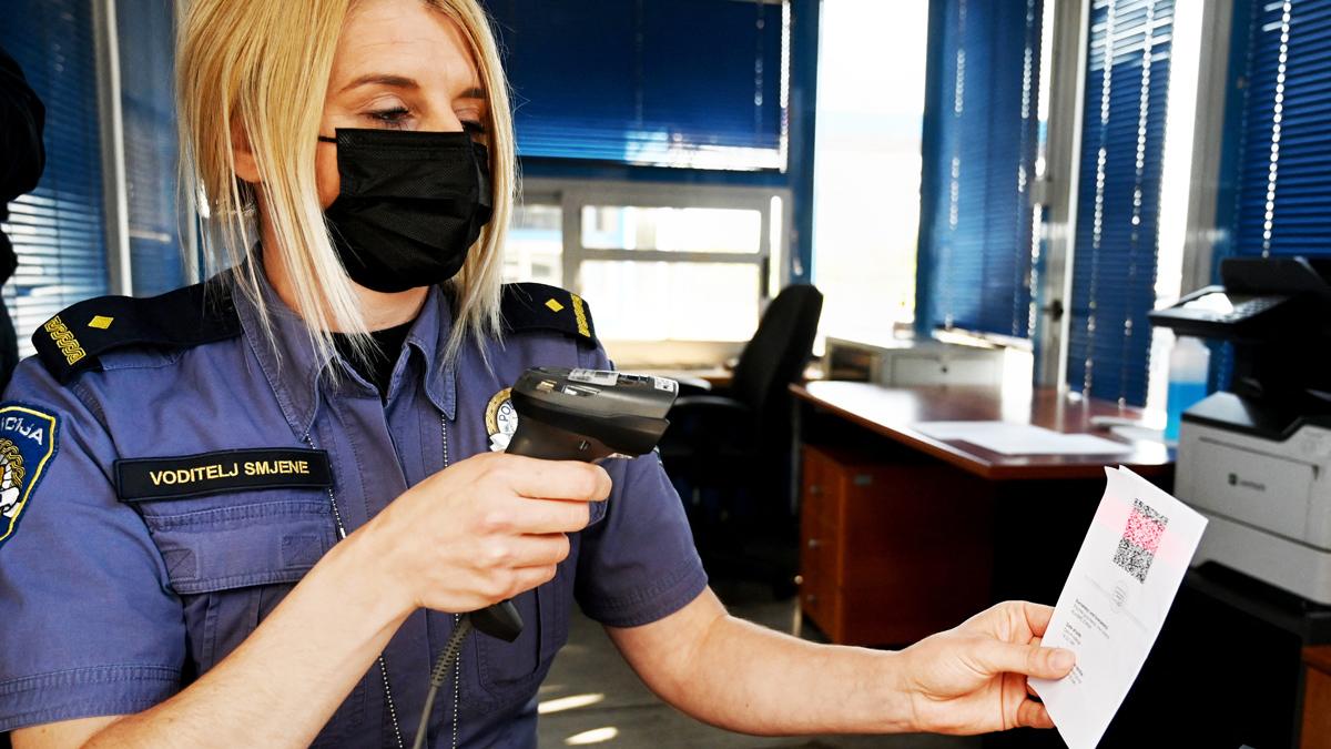
[(784, 169), (789, 0), (487, 0), (520, 156)]

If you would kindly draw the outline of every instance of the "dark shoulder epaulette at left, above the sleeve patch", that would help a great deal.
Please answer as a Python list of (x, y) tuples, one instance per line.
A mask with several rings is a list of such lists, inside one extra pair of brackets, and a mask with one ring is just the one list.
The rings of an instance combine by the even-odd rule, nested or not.
[(32, 333), (32, 345), (60, 382), (101, 367), (100, 356), (130, 345), (189, 348), (241, 333), (230, 289), (216, 281), (161, 296), (102, 296), (65, 308)]

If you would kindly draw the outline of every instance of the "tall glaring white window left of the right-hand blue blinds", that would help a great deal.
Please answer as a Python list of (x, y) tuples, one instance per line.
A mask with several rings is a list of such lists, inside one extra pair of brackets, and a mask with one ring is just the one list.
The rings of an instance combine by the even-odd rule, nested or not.
[(821, 329), (890, 336), (914, 317), (928, 0), (824, 0), (813, 283)]

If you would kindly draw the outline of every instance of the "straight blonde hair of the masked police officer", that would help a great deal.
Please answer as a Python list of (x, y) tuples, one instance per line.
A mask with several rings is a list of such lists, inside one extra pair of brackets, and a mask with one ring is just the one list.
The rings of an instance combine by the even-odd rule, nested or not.
[[(476, 0), (422, 0), (462, 28), (488, 97), (494, 216), (449, 284), (457, 319), (445, 357), (467, 336), (500, 336), (502, 251), (516, 192), (508, 85), (486, 12)], [(295, 312), (321, 356), (331, 331), (367, 340), (351, 281), (329, 239), (315, 185), (314, 152), (338, 35), (354, 0), (193, 0), (180, 27), (177, 105), (186, 176), (197, 180), (208, 276), (236, 268), (237, 285), (272, 319), (254, 263), (244, 263), (264, 219), (280, 245)], [(248, 139), (261, 181), (234, 172), (233, 128)], [(192, 172), (192, 173), (190, 173)], [(241, 272), (240, 269), (244, 269)], [(482, 349), (483, 351), (483, 349)]]

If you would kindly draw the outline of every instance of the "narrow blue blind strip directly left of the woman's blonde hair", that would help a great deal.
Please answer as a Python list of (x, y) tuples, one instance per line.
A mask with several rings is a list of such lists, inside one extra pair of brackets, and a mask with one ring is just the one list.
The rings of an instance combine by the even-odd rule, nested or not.
[(134, 296), (182, 287), (177, 213), (174, 3), (117, 0), (125, 192)]

